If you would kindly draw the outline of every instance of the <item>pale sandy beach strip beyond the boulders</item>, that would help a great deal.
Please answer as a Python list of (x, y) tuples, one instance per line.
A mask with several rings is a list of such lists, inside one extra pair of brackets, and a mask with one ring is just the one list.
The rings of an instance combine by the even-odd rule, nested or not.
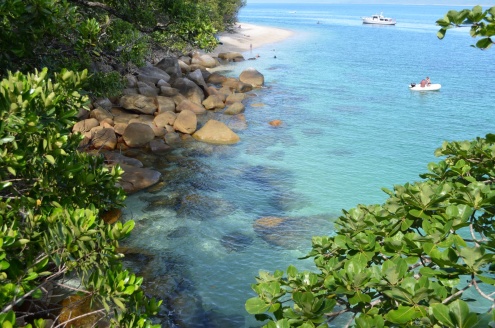
[(266, 44), (280, 42), (293, 34), (292, 31), (275, 27), (237, 23), (234, 32), (222, 32), (218, 35), (222, 44), (212, 53), (245, 52)]

